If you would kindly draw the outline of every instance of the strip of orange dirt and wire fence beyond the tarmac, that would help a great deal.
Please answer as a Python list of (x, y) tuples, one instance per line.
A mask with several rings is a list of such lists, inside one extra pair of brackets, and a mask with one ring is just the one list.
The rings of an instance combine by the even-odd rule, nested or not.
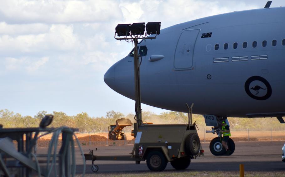
[[(206, 133), (210, 128), (197, 129), (201, 142), (210, 142), (217, 137), (216, 134)], [(82, 146), (92, 145), (127, 145), (134, 144), (134, 137), (131, 132), (125, 132), (126, 140), (108, 139), (108, 131), (101, 132), (75, 132)], [(38, 140), (38, 147), (48, 147), (52, 135), (43, 136)], [(59, 146), (61, 145), (61, 136)], [(234, 141), (285, 141), (285, 129), (231, 129), (231, 138)]]

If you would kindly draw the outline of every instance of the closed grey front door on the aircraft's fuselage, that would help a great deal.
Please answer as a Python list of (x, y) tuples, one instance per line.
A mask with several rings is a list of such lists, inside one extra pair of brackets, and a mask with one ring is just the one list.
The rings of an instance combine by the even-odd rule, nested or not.
[(174, 69), (191, 69), (193, 67), (194, 46), (200, 29), (182, 31), (174, 55)]

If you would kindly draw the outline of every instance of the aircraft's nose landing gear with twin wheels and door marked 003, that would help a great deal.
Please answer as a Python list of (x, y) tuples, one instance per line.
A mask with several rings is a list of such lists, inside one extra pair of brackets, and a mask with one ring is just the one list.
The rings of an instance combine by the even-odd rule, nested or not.
[[(221, 131), (222, 121), (225, 121), (226, 117), (218, 117), (215, 115), (204, 115), (206, 126), (213, 126), (212, 130), (206, 130), (206, 133), (213, 133), (217, 134), (218, 137), (215, 137), (210, 142), (210, 151), (213, 155), (224, 155), (226, 153), (225, 147), (222, 145), (223, 137)], [(228, 140), (228, 147), (231, 150), (231, 155), (235, 151), (235, 142), (229, 138)]]

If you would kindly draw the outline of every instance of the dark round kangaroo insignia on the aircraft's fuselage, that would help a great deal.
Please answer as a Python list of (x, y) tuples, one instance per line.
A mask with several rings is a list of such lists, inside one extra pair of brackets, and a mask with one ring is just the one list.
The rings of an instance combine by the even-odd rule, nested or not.
[(272, 94), (269, 82), (260, 76), (252, 76), (248, 78), (244, 88), (248, 96), (256, 100), (266, 100)]

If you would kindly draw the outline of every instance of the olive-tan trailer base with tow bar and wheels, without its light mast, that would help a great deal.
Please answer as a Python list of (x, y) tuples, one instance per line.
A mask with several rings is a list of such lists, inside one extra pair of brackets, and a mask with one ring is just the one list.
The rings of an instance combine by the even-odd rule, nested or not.
[(135, 161), (136, 164), (146, 160), (152, 171), (162, 171), (170, 162), (176, 170), (183, 170), (190, 165), (191, 159), (200, 155), (204, 155), (204, 150), (195, 123), (142, 124), (137, 131), (131, 155), (101, 156), (94, 155), (93, 150), (84, 154), (85, 160), (92, 161), (94, 172), (98, 170), (98, 166), (94, 164), (95, 160), (128, 160)]

